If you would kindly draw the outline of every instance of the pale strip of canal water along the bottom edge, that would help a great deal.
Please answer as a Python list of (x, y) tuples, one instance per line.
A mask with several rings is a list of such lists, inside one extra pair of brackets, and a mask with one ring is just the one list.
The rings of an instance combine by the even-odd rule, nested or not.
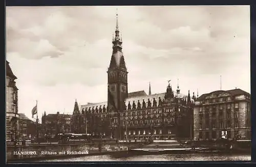
[(250, 161), (250, 154), (166, 154), (166, 155), (86, 155), (75, 158), (49, 159), (42, 161)]

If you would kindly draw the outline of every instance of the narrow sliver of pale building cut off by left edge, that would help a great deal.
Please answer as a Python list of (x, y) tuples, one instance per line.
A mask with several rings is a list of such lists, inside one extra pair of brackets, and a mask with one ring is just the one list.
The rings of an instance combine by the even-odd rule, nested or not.
[(9, 62), (6, 61), (6, 141), (14, 141), (19, 136), (18, 88)]

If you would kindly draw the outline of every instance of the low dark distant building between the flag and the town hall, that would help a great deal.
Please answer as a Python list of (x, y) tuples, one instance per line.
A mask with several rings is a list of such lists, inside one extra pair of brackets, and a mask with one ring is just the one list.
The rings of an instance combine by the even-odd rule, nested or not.
[(69, 114), (48, 114), (42, 115), (42, 131), (48, 137), (54, 137), (58, 133), (71, 132), (71, 118)]

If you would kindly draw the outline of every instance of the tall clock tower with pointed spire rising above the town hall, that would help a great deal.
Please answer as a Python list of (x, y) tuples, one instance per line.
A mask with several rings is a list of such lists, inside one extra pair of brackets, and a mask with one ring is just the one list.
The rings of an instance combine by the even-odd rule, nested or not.
[(122, 52), (122, 38), (118, 29), (118, 14), (116, 14), (116, 31), (112, 39), (113, 52), (108, 68), (108, 109), (119, 112), (124, 108), (127, 98), (127, 69)]

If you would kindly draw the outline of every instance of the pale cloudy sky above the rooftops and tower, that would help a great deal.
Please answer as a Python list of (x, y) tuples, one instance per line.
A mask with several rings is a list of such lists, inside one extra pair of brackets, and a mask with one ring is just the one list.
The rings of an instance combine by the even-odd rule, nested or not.
[(163, 93), (169, 79), (176, 90), (179, 79), (182, 94), (250, 93), (249, 6), (7, 7), (18, 113), (31, 118), (36, 100), (38, 117), (107, 101), (116, 13), (129, 92), (151, 82)]

